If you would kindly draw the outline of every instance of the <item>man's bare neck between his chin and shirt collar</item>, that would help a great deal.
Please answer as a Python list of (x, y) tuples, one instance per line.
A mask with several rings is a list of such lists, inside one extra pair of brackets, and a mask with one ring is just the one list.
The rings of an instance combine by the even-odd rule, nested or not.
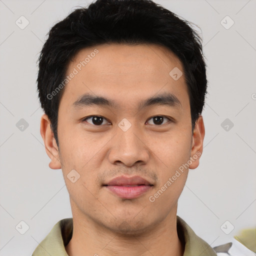
[(140, 234), (113, 232), (87, 217), (73, 214), (73, 235), (65, 246), (69, 256), (182, 256), (184, 248), (177, 235), (176, 211)]

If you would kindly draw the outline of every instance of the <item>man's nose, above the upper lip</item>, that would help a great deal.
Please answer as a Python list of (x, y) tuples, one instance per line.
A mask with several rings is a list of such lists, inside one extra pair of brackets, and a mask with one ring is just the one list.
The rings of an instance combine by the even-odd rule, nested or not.
[(115, 165), (142, 165), (149, 160), (149, 148), (145, 135), (131, 125), (128, 130), (117, 128), (117, 134), (111, 140), (108, 160)]

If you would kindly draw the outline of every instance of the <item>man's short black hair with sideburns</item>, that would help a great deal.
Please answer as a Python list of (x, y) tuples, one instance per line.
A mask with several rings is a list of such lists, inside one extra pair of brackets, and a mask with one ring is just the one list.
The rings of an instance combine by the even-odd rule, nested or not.
[[(104, 43), (163, 45), (182, 62), (189, 94), (192, 132), (207, 87), (202, 39), (191, 22), (152, 0), (96, 0), (73, 10), (48, 32), (38, 61), (37, 91), (58, 145), (57, 117), (69, 61), (86, 47)], [(49, 96), (50, 95), (50, 96)]]

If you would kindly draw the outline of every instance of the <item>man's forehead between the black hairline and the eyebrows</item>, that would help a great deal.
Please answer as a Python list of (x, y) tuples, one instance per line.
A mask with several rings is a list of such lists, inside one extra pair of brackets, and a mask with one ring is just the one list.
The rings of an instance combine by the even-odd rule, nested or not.
[[(118, 105), (132, 106), (164, 91), (174, 94), (184, 106), (189, 100), (184, 75), (173, 79), (172, 70), (183, 73), (181, 61), (170, 50), (155, 44), (102, 44), (77, 52), (66, 75), (60, 103), (70, 107), (82, 94), (117, 98)], [(171, 72), (172, 74), (172, 72)], [(117, 101), (115, 100), (115, 101)], [(63, 102), (62, 102), (63, 101)]]

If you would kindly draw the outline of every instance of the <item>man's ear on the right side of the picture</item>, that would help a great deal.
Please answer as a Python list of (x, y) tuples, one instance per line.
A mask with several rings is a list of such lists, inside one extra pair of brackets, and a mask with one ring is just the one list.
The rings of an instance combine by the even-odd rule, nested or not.
[(199, 158), (202, 154), (202, 143), (205, 130), (202, 115), (199, 115), (193, 130), (189, 169), (195, 169), (199, 165)]

